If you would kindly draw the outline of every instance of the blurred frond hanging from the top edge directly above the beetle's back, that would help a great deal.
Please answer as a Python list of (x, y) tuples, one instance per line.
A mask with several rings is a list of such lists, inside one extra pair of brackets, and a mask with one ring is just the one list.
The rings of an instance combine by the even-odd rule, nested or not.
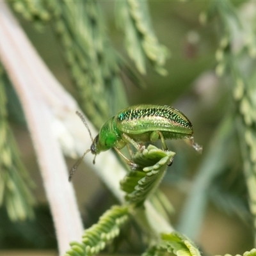
[(116, 1), (116, 23), (124, 31), (125, 47), (141, 74), (146, 73), (146, 60), (149, 60), (159, 74), (166, 75), (163, 66), (168, 51), (154, 34), (147, 2)]

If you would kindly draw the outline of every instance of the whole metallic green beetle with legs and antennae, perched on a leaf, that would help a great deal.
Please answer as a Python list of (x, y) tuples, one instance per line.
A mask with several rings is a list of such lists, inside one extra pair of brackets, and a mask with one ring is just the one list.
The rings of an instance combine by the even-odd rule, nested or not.
[[(77, 115), (83, 120), (92, 138), (83, 115), (79, 112), (77, 112)], [(163, 150), (168, 150), (165, 143), (166, 139), (189, 139), (197, 151), (202, 151), (202, 147), (194, 143), (192, 135), (193, 126), (191, 122), (178, 109), (158, 105), (137, 105), (125, 108), (102, 125), (99, 134), (94, 140), (92, 138), (90, 149), (73, 166), (69, 180), (72, 179), (77, 166), (88, 152), (92, 152), (96, 156), (109, 148), (115, 148), (126, 163), (132, 169), (135, 169), (137, 164), (132, 163), (131, 160), (125, 157), (120, 149), (133, 145), (137, 150), (142, 150), (144, 148), (143, 143), (155, 142), (160, 139)], [(95, 160), (93, 160), (94, 162)]]

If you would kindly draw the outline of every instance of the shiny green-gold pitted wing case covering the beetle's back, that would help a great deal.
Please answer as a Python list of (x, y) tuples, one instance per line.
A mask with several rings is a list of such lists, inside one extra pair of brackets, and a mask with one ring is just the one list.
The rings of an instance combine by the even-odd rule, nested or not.
[(128, 134), (156, 130), (170, 132), (170, 138), (175, 137), (174, 133), (188, 136), (193, 134), (193, 127), (188, 118), (170, 106), (138, 105), (125, 108), (116, 116), (116, 127)]

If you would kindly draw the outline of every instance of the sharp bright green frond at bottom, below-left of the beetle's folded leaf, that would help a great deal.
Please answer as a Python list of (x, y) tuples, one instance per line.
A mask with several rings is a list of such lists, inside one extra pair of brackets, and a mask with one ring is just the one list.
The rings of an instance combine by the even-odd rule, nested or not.
[(128, 210), (127, 206), (111, 207), (100, 217), (98, 223), (84, 230), (82, 243), (70, 243), (71, 248), (65, 256), (93, 255), (104, 250), (106, 243), (119, 235), (120, 228), (129, 219)]

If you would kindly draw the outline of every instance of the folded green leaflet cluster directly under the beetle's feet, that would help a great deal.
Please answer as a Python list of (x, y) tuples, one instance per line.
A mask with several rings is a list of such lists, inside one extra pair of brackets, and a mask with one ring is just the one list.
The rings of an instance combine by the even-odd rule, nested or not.
[(153, 145), (149, 145), (142, 152), (136, 152), (132, 161), (140, 169), (129, 171), (120, 182), (121, 188), (127, 193), (125, 200), (130, 204), (143, 204), (163, 179), (167, 164), (170, 164), (174, 155), (174, 152), (163, 151)]

